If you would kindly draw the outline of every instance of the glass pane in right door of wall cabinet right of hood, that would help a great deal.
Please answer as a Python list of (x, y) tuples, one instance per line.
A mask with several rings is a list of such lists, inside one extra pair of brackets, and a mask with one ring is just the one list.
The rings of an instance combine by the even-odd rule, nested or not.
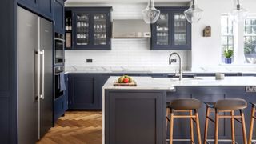
[(174, 13), (174, 45), (186, 45), (186, 18), (182, 13)]

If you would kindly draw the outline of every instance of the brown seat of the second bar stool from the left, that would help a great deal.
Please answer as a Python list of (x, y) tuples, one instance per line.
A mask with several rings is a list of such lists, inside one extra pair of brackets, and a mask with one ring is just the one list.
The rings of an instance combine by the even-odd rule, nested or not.
[(221, 99), (217, 102), (206, 102), (210, 108), (218, 110), (242, 110), (247, 107), (247, 102), (240, 98)]

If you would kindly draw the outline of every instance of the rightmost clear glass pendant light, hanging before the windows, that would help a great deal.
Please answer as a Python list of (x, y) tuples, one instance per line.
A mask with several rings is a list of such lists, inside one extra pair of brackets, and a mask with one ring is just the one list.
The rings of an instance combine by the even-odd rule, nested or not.
[(239, 0), (234, 0), (234, 2), (235, 7), (230, 11), (230, 19), (232, 19), (234, 22), (242, 22), (246, 19), (248, 11), (242, 8)]

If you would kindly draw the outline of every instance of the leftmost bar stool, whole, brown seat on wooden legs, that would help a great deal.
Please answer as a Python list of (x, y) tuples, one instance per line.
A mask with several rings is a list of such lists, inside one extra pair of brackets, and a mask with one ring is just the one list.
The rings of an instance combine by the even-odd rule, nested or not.
[[(197, 131), (198, 131), (198, 144), (202, 144), (201, 141), (201, 133), (200, 133), (200, 124), (199, 124), (199, 117), (198, 117), (198, 109), (201, 107), (202, 102), (197, 99), (193, 98), (182, 98), (182, 99), (175, 99), (169, 104), (167, 104), (167, 115), (166, 115), (166, 122), (170, 122), (170, 144), (174, 141), (190, 141), (191, 143), (194, 142), (194, 127), (193, 122), (196, 123)], [(194, 110), (194, 114), (193, 114)], [(189, 113), (188, 115), (174, 115), (175, 112), (184, 112)], [(168, 117), (170, 115), (170, 118)], [(190, 118), (190, 139), (174, 139), (174, 118)], [(167, 126), (167, 125), (166, 125)]]

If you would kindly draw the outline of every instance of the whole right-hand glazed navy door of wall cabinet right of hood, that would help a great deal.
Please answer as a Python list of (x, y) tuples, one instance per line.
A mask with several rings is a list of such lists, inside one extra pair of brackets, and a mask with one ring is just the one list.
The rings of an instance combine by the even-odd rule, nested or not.
[(190, 49), (191, 34), (190, 23), (186, 21), (185, 15), (181, 11), (172, 13), (172, 48)]

